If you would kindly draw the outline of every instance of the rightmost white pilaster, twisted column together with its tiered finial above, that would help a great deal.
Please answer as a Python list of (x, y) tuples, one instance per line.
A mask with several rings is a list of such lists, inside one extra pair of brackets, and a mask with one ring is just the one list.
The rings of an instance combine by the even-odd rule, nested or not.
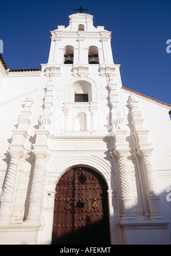
[(151, 154), (153, 149), (148, 142), (147, 129), (144, 129), (144, 119), (141, 116), (139, 110), (139, 101), (131, 95), (129, 99), (129, 107), (131, 108), (132, 125), (134, 128), (133, 136), (136, 141), (136, 152), (143, 161), (146, 192), (150, 207), (150, 220), (164, 218), (160, 209), (160, 197), (157, 194), (157, 186), (155, 177), (153, 174), (153, 168), (151, 163)]

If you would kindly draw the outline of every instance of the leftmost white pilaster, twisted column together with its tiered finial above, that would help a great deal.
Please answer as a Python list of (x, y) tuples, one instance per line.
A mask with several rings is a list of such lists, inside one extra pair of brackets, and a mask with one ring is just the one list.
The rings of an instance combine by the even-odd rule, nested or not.
[(10, 154), (10, 164), (7, 170), (0, 208), (0, 223), (2, 225), (11, 223), (18, 163), (21, 157), (27, 157), (26, 148), (28, 147), (28, 139), (30, 137), (28, 135), (28, 129), (31, 124), (30, 119), (33, 100), (31, 97), (27, 97), (24, 103), (25, 105), (21, 111), (21, 116), (18, 119), (18, 127), (13, 131), (13, 140), (8, 150)]

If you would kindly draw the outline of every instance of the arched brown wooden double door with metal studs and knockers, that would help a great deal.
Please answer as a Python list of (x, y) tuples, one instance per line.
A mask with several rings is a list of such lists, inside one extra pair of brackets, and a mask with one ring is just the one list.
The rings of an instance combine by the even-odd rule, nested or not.
[(107, 185), (88, 168), (73, 168), (56, 185), (53, 244), (110, 244)]

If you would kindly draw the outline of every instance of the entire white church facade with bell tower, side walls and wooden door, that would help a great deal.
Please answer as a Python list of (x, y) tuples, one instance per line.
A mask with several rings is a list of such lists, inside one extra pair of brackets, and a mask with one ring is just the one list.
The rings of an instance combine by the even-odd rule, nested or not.
[(0, 243), (170, 244), (171, 105), (122, 86), (92, 15), (69, 22), (42, 70), (0, 59)]

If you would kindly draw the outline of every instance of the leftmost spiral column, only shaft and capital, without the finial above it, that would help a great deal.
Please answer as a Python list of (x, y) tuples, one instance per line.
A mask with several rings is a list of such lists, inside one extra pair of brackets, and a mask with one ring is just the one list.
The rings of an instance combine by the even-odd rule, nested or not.
[(17, 177), (18, 162), (19, 159), (23, 156), (22, 151), (15, 152), (9, 150), (9, 153), (11, 155), (11, 159), (9, 169), (7, 171), (0, 208), (0, 222), (6, 224), (10, 224), (11, 222), (11, 211), (14, 201), (14, 190)]

